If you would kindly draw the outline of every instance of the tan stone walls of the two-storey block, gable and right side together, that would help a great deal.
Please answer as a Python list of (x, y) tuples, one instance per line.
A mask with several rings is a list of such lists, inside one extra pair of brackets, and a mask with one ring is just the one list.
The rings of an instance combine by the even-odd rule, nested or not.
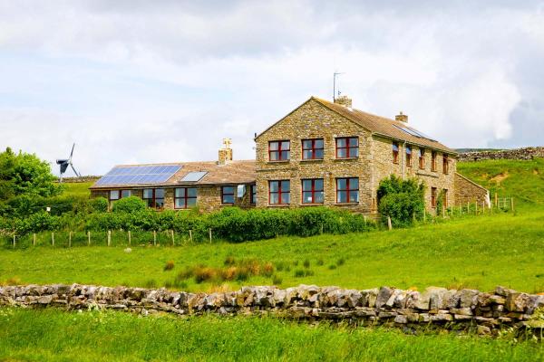
[[(359, 138), (359, 157), (336, 159), (335, 138)], [(302, 140), (324, 138), (325, 149), (322, 160), (302, 159)], [(290, 159), (288, 161), (269, 161), (268, 142), (290, 140)], [(309, 100), (286, 118), (271, 126), (257, 138), (257, 207), (300, 207), (302, 204), (302, 182), (304, 178), (323, 178), (325, 206), (343, 207), (371, 213), (377, 210), (376, 191), (382, 179), (396, 176), (418, 177), (425, 183), (425, 201), (432, 208), (431, 187), (448, 190), (447, 204), (454, 203), (455, 195), (455, 157), (449, 157), (449, 172), (442, 172), (442, 152), (437, 152), (436, 171), (432, 171), (432, 150), (425, 149), (424, 167), (419, 167), (417, 145), (412, 146), (412, 165), (405, 164), (405, 145), (399, 142), (399, 162), (393, 163), (393, 140), (373, 136), (363, 127), (329, 110), (316, 100)], [(359, 202), (355, 204), (336, 204), (336, 177), (359, 177)], [(268, 205), (268, 181), (291, 181), (291, 204)]]

